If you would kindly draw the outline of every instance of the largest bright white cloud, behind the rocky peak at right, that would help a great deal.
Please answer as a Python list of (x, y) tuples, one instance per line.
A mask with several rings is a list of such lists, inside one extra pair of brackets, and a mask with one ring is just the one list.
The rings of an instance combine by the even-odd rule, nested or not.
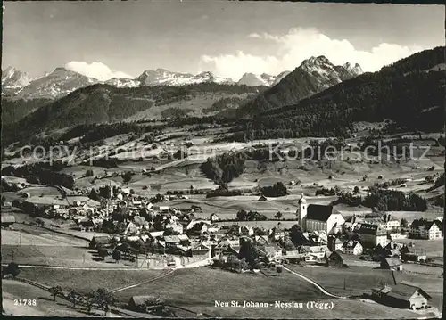
[(284, 70), (293, 70), (303, 60), (318, 55), (325, 55), (336, 65), (359, 63), (364, 71), (376, 71), (423, 50), (419, 46), (382, 43), (369, 51), (362, 51), (346, 39), (331, 39), (317, 29), (290, 29), (285, 35), (278, 36), (252, 33), (248, 37), (263, 40), (268, 49), (274, 45), (276, 52), (272, 55), (252, 55), (242, 51), (216, 56), (202, 55), (202, 62), (221, 77), (238, 79), (245, 72), (277, 75)]

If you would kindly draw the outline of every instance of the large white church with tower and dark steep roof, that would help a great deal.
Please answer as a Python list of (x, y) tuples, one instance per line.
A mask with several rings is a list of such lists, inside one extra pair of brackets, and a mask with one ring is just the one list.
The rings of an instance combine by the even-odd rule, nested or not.
[(296, 213), (303, 232), (325, 231), (326, 234), (336, 234), (345, 222), (343, 215), (335, 211), (333, 206), (307, 204), (303, 193)]

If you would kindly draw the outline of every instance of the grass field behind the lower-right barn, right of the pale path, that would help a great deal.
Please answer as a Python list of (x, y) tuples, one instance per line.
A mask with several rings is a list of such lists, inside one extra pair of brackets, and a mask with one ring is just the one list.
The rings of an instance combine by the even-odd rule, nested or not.
[[(342, 296), (349, 296), (350, 293), (354, 296), (360, 296), (364, 293), (370, 293), (380, 283), (387, 283), (391, 286), (394, 283), (390, 270), (366, 267), (296, 267), (293, 265), (290, 265), (290, 268), (308, 276), (326, 288), (327, 291)], [(406, 281), (421, 286), (423, 290), (433, 296), (434, 307), (440, 308), (442, 306), (442, 276), (395, 272), (395, 279), (397, 283)]]

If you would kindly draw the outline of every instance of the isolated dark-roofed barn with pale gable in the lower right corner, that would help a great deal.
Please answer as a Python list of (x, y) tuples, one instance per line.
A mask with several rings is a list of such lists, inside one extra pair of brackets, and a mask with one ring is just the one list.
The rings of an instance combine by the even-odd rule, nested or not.
[(398, 283), (394, 287), (384, 285), (372, 289), (372, 297), (395, 308), (425, 308), (431, 299), (424, 290), (406, 283)]

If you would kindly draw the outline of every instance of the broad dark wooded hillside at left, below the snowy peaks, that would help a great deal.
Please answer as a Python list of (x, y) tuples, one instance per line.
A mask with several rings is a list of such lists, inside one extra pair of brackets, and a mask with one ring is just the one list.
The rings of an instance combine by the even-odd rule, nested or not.
[[(243, 96), (255, 94), (263, 87), (217, 84), (213, 82), (189, 86), (140, 86), (133, 88), (116, 88), (97, 84), (47, 103), (19, 120), (4, 126), (4, 143), (29, 138), (45, 130), (74, 127), (81, 124), (116, 122), (131, 119), (133, 115), (151, 108), (166, 110), (166, 106), (178, 105), (209, 94), (216, 96)], [(210, 99), (209, 106), (214, 101)], [(146, 112), (146, 116), (162, 112)], [(172, 116), (169, 112), (165, 112)], [(187, 113), (187, 112), (186, 112)], [(180, 113), (179, 117), (184, 116)], [(175, 114), (173, 114), (175, 117)], [(141, 119), (135, 118), (135, 119)], [(133, 119), (133, 120), (135, 120)]]

